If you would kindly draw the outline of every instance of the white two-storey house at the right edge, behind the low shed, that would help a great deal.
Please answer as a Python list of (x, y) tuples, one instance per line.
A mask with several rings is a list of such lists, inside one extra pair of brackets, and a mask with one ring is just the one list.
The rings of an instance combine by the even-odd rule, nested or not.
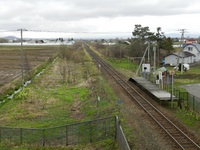
[(185, 44), (183, 47), (183, 52), (189, 52), (191, 54), (194, 54), (195, 56), (193, 58), (193, 62), (200, 61), (200, 44), (197, 43)]

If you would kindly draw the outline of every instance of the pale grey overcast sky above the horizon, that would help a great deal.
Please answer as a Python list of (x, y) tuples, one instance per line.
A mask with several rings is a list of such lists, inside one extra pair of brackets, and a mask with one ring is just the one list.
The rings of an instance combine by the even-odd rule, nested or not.
[[(152, 32), (161, 27), (167, 35), (187, 29), (185, 36), (200, 36), (200, 0), (0, 0), (0, 6), (0, 31), (70, 32), (27, 31), (27, 37), (131, 37), (135, 24)], [(20, 35), (0, 32), (0, 37), (14, 34)]]

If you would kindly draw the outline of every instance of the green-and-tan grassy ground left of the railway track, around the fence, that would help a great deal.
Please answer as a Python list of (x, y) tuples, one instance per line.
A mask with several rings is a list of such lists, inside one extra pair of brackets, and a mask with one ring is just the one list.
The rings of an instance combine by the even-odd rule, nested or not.
[[(99, 74), (92, 60), (88, 58), (84, 61), (83, 63), (70, 62), (77, 70), (75, 80), (71, 77), (70, 82), (68, 82), (67, 72), (65, 81), (62, 76), (62, 65), (66, 64), (65, 60), (60, 58), (54, 64), (48, 65), (44, 73), (34, 78), (23, 91), (1, 106), (0, 125), (14, 128), (49, 128), (116, 115), (118, 109), (114, 91)], [(90, 72), (90, 76), (88, 73), (86, 75), (86, 72)], [(97, 100), (98, 96), (100, 101)], [(102, 148), (102, 146), (110, 149), (115, 147), (115, 142), (108, 140), (104, 143), (83, 145), (80, 149)], [(4, 147), (29, 148), (25, 145), (0, 145), (0, 148)], [(70, 148), (58, 147), (57, 149)]]

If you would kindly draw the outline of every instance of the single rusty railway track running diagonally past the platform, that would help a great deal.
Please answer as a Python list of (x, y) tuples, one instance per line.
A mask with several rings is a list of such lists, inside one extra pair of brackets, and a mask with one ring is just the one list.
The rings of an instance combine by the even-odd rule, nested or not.
[(131, 84), (126, 81), (119, 73), (95, 54), (87, 45), (87, 51), (91, 57), (104, 68), (115, 81), (136, 101), (146, 113), (158, 124), (168, 138), (172, 141), (174, 149), (197, 150), (200, 146), (194, 142), (186, 133), (175, 125), (167, 116), (160, 112), (147, 99), (145, 99)]

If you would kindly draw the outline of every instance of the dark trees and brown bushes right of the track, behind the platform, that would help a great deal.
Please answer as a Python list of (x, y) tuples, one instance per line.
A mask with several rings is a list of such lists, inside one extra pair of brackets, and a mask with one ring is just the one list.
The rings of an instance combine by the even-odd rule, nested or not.
[[(101, 43), (96, 43), (97, 48), (106, 57), (113, 57), (121, 59), (124, 57), (141, 58), (146, 50), (148, 44), (150, 44), (150, 55), (153, 55), (153, 45), (157, 47), (157, 58), (160, 63), (165, 55), (174, 52), (173, 39), (166, 37), (162, 32), (161, 27), (157, 27), (156, 32), (151, 32), (148, 26), (143, 27), (140, 24), (136, 24), (132, 32), (132, 38), (126, 41), (115, 40), (115, 45), (105, 46)], [(104, 40), (101, 40), (101, 42)], [(138, 59), (139, 61), (139, 59)]]

